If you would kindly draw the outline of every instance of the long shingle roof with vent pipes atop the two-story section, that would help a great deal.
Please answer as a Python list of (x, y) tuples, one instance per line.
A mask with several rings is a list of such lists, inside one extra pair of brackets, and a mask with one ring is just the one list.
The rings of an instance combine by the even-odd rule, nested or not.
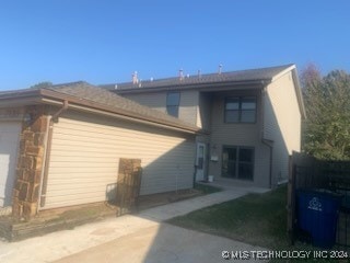
[(278, 73), (293, 66), (283, 65), (269, 68), (259, 68), (259, 69), (247, 69), (240, 71), (222, 72), (222, 73), (209, 73), (200, 76), (185, 76), (183, 80), (179, 77), (159, 79), (159, 80), (148, 80), (141, 81), (137, 84), (132, 82), (116, 83), (116, 84), (103, 84), (101, 85), (104, 89), (108, 90), (131, 90), (131, 89), (152, 89), (152, 88), (165, 88), (165, 87), (188, 87), (188, 85), (200, 85), (208, 83), (221, 83), (221, 82), (253, 82), (253, 81), (269, 81)]

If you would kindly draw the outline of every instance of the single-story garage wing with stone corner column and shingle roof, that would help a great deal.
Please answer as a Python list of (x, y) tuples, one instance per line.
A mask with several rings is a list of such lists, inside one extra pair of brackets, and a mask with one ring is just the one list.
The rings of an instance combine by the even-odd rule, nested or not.
[(85, 82), (1, 92), (0, 214), (113, 198), (120, 158), (141, 161), (141, 195), (191, 188), (199, 132)]

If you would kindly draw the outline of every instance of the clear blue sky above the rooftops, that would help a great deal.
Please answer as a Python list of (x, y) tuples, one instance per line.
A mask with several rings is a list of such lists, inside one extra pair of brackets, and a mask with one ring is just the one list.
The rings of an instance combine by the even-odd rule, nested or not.
[(0, 90), (296, 64), (350, 71), (349, 0), (1, 0)]

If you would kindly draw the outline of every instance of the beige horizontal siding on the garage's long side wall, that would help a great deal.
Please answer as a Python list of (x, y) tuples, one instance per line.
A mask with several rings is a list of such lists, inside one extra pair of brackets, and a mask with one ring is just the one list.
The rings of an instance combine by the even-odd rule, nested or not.
[(44, 208), (103, 202), (106, 194), (114, 195), (119, 158), (141, 159), (141, 195), (190, 188), (194, 156), (194, 138), (179, 133), (65, 114), (54, 126)]

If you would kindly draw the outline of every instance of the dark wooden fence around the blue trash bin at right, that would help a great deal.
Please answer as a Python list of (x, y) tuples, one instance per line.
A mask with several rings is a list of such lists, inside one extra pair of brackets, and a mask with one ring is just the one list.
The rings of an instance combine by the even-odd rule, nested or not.
[(350, 162), (317, 160), (300, 152), (290, 156), (288, 232), (291, 243), (299, 238), (296, 195), (301, 188), (325, 188), (343, 195), (336, 244), (350, 247)]

